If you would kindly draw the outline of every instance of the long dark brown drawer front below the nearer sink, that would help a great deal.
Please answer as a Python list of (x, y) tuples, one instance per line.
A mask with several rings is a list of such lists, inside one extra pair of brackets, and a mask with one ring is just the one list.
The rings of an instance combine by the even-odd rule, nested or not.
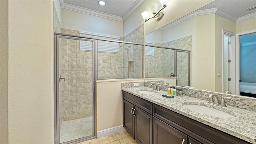
[(230, 136), (225, 132), (216, 130), (156, 104), (153, 104), (153, 116), (188, 134), (188, 136), (196, 138), (203, 144), (249, 144), (239, 138)]

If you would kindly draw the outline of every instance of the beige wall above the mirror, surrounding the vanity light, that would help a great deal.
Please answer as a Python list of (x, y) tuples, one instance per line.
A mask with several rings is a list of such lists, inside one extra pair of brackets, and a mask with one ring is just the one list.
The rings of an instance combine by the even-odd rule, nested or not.
[(143, 23), (145, 24), (145, 34), (149, 34), (150, 32), (153, 32), (154, 30), (157, 30), (158, 28), (161, 28), (162, 26), (165, 26), (166, 24), (169, 24), (170, 22), (173, 22), (213, 1), (214, 0), (170, 0), (167, 7), (163, 10), (164, 17), (161, 20), (156, 21), (151, 19), (144, 23), (141, 13), (148, 10), (148, 6), (152, 3), (158, 2), (159, 8), (161, 6), (159, 1), (144, 0), (142, 4), (140, 4), (140, 6), (138, 6), (138, 8), (136, 8), (136, 10), (132, 12), (126, 20), (124, 20), (124, 35), (128, 34), (134, 30), (134, 28)]

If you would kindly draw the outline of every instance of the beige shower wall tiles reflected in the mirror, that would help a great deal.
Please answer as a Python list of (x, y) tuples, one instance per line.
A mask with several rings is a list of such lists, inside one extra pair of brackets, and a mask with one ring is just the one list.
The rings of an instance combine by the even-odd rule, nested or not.
[[(192, 50), (192, 36), (172, 40), (156, 46)], [(191, 62), (191, 61), (190, 61)], [(170, 77), (174, 73), (174, 50), (154, 48), (154, 56), (145, 56), (145, 77)], [(177, 52), (177, 85), (188, 86), (188, 53)]]

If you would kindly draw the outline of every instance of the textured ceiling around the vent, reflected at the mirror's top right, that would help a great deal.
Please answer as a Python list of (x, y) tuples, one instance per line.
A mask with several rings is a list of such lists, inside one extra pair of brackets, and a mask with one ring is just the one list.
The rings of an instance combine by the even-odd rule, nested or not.
[(210, 8), (220, 8), (234, 18), (239, 18), (256, 12), (256, 8), (252, 10), (244, 10), (256, 6), (256, 0), (216, 0), (198, 10), (206, 10)]

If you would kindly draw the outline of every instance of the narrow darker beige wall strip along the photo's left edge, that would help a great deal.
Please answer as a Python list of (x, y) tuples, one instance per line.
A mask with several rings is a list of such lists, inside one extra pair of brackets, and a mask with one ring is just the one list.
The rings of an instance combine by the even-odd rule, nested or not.
[(8, 144), (8, 1), (0, 0), (0, 143)]

